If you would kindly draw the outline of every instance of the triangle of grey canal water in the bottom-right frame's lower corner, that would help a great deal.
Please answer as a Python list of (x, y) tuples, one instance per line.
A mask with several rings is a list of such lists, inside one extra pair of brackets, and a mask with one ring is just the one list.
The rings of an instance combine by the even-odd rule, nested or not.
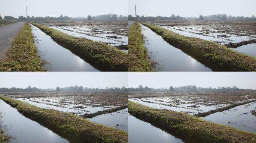
[(129, 143), (184, 143), (181, 139), (141, 121), (131, 114), (128, 115), (128, 124)]

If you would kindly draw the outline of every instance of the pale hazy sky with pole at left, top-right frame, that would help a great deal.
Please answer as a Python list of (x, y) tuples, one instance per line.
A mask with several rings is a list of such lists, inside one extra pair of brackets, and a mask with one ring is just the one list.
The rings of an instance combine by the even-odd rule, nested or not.
[(135, 16), (135, 3), (140, 16), (256, 15), (256, 0), (129, 0), (129, 15)]

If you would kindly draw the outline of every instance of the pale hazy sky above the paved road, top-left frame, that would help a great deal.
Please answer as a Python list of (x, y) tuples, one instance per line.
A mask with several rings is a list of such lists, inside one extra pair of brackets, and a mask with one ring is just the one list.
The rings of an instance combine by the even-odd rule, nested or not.
[(103, 15), (116, 13), (128, 15), (128, 0), (1, 0), (1, 16), (26, 15), (26, 5), (29, 16), (55, 16), (61, 14), (69, 17), (87, 15)]

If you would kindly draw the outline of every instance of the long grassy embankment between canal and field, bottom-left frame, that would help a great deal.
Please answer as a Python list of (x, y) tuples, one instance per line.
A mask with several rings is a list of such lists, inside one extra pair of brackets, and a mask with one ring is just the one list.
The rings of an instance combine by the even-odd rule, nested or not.
[(98, 123), (93, 123), (83, 117), (53, 109), (35, 107), (31, 104), (0, 96), (0, 99), (27, 118), (42, 124), (60, 136), (74, 143), (127, 143), (128, 133)]

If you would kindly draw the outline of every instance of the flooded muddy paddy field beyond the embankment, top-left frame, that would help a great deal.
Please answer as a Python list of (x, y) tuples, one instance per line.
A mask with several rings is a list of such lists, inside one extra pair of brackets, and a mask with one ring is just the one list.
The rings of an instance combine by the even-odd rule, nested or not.
[(128, 53), (127, 21), (43, 21), (37, 23), (71, 36), (103, 42)]

